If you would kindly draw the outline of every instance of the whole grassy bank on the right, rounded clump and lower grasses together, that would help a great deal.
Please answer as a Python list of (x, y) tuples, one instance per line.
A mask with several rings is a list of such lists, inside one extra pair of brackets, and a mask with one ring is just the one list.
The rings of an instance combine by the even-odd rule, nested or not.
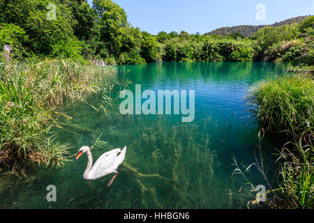
[[(267, 205), (314, 208), (313, 77), (292, 75), (268, 79), (253, 89), (248, 100), (256, 106), (261, 127), (284, 140), (282, 148), (277, 149), (278, 188), (267, 191)], [(256, 162), (255, 166), (268, 182), (262, 162)]]

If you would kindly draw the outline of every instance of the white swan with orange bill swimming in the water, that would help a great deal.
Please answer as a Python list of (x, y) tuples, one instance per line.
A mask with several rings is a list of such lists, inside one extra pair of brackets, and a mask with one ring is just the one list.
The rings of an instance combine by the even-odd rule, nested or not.
[(88, 158), (87, 167), (83, 174), (84, 179), (96, 180), (100, 177), (114, 173), (116, 175), (114, 175), (114, 177), (107, 184), (107, 187), (110, 187), (114, 178), (116, 178), (119, 174), (117, 171), (119, 165), (124, 162), (124, 157), (126, 156), (126, 146), (124, 146), (123, 150), (121, 150), (121, 148), (115, 148), (112, 151), (103, 153), (103, 155), (100, 155), (93, 167), (91, 167), (93, 165), (93, 157), (91, 156), (89, 146), (83, 146), (80, 148), (77, 153), (76, 160), (80, 158), (83, 153), (87, 153)]

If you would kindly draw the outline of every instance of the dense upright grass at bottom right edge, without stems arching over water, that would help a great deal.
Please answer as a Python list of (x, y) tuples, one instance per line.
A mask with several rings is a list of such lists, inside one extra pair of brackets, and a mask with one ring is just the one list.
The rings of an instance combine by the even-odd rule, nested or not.
[(301, 134), (298, 141), (287, 142), (280, 152), (283, 160), (280, 176), (280, 198), (276, 206), (283, 208), (314, 208), (314, 133)]

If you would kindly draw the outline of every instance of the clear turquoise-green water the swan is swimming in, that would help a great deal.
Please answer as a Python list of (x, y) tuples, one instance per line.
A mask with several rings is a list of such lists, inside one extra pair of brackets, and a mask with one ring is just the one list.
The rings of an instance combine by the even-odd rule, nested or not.
[[(69, 142), (76, 153), (91, 146), (103, 132), (105, 150), (92, 152), (95, 160), (105, 151), (127, 146), (126, 166), (110, 188), (111, 176), (84, 180), (87, 156), (67, 162), (62, 169), (30, 167), (27, 177), (0, 175), (0, 208), (246, 208), (250, 197), (237, 194), (246, 183), (231, 178), (232, 153), (247, 166), (257, 150), (256, 121), (251, 118), (244, 95), (254, 84), (281, 74), (281, 63), (151, 63), (119, 66), (119, 77), (128, 79), (130, 90), (195, 90), (195, 120), (181, 123), (181, 116), (119, 114), (119, 102), (109, 116), (98, 116), (85, 103), (63, 107), (73, 119), (61, 119), (54, 129), (59, 141)], [(89, 100), (99, 105), (100, 97)], [(262, 141), (267, 174), (274, 179), (271, 153), (276, 146)], [(139, 174), (158, 174), (140, 176)], [(252, 168), (248, 176), (265, 184)], [(56, 185), (57, 202), (47, 202), (47, 185)], [(249, 187), (244, 186), (249, 189)], [(234, 193), (230, 195), (230, 192)]]

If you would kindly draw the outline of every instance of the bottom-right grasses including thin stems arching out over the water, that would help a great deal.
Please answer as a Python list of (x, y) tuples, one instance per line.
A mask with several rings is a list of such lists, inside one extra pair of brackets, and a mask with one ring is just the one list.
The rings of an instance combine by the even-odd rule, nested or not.
[[(293, 124), (292, 124), (293, 125)], [(262, 138), (259, 132), (258, 137), (260, 142)], [(263, 131), (264, 132), (264, 131)], [(266, 204), (270, 208), (278, 209), (313, 209), (314, 201), (314, 147), (313, 147), (313, 126), (301, 134), (290, 133), (288, 141), (283, 145), (281, 150), (278, 150), (278, 159), (276, 162), (280, 162), (280, 169), (277, 176), (278, 185), (277, 189), (273, 189), (274, 186), (269, 183), (267, 174), (264, 169), (262, 147), (260, 144), (260, 161), (255, 156), (255, 162), (246, 167), (245, 171), (242, 164), (237, 164), (237, 160), (233, 157), (234, 169), (232, 176), (241, 174), (246, 180), (246, 184), (251, 185), (251, 192), (258, 193), (255, 190), (250, 178), (246, 176), (248, 169), (251, 167), (257, 167), (264, 180), (267, 182), (270, 190), (267, 190), (264, 195), (265, 201), (260, 201), (256, 198), (255, 194), (248, 193), (248, 196), (252, 196), (255, 200), (250, 201), (252, 204), (259, 204), (260, 202)], [(243, 163), (243, 162), (242, 162)], [(241, 190), (241, 189), (240, 189)]]

